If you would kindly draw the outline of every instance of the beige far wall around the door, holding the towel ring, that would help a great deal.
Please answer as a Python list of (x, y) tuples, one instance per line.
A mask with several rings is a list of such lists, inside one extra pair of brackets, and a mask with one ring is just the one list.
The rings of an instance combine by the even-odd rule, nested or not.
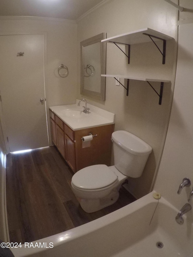
[[(0, 17), (0, 24), (0, 31), (4, 32), (47, 32), (46, 99), (49, 106), (74, 102), (77, 73), (76, 23), (49, 18)], [(69, 75), (66, 78), (59, 77), (60, 64), (68, 67)]]

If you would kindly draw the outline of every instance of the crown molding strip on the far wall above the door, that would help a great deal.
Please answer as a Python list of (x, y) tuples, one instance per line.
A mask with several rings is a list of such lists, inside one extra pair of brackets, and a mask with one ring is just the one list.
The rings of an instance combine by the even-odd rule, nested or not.
[(42, 20), (42, 21), (47, 20), (51, 22), (76, 24), (75, 20), (65, 20), (65, 19), (59, 19), (59, 18), (35, 17), (35, 16), (0, 16), (0, 20)]

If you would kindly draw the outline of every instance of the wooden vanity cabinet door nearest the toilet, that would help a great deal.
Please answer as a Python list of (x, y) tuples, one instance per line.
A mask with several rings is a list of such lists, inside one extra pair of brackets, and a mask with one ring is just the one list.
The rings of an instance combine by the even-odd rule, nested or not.
[(75, 143), (72, 141), (69, 136), (65, 134), (65, 145), (66, 145), (66, 161), (68, 165), (76, 172), (76, 161), (75, 161)]

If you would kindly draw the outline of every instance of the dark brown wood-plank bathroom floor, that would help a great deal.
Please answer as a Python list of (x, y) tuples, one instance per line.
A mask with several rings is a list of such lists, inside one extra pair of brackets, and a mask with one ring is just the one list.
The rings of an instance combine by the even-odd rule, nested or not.
[(135, 199), (123, 187), (116, 203), (86, 213), (71, 191), (73, 172), (55, 146), (7, 155), (6, 196), (11, 242), (31, 242), (78, 227)]

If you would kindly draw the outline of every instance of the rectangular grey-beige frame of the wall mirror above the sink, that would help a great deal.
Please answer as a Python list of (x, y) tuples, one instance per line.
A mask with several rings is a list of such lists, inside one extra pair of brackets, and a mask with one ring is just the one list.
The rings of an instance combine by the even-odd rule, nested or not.
[[(105, 83), (106, 77), (100, 78), (100, 92), (91, 91), (88, 89), (84, 89), (84, 47), (87, 45), (91, 45), (97, 42), (101, 42), (101, 40), (106, 39), (106, 33), (103, 32), (99, 35), (93, 36), (82, 41), (81, 44), (81, 95), (90, 96), (95, 99), (105, 101)], [(106, 43), (101, 43), (100, 45), (100, 66), (101, 66), (101, 74), (106, 74)]]

